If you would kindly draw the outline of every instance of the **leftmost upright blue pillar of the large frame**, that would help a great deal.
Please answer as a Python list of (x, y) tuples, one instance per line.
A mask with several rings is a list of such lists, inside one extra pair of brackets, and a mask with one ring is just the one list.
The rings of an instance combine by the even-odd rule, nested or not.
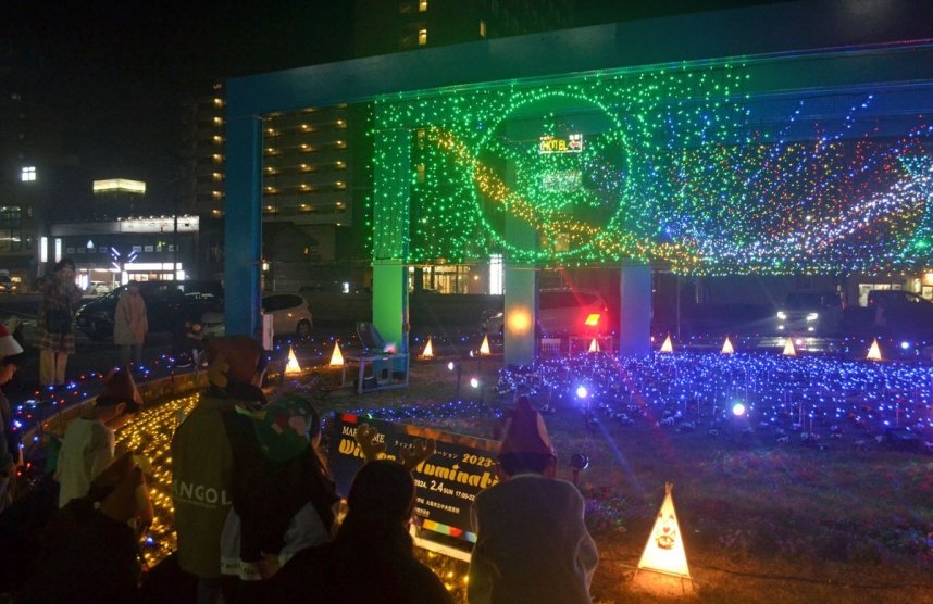
[(224, 323), (227, 335), (254, 336), (260, 328), (262, 118), (233, 111), (228, 106)]

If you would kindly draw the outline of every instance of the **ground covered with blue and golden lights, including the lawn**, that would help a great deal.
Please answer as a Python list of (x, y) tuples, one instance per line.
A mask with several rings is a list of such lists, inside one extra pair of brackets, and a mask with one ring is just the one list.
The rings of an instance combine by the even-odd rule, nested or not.
[[(931, 367), (712, 352), (644, 360), (584, 353), (514, 370), (500, 370), (495, 357), (470, 358), (461, 372), (447, 363), (413, 362), (407, 390), (332, 391), (321, 386), (333, 386), (338, 374), (326, 367), (288, 387), (318, 397), (324, 414), (354, 412), (492, 439), (515, 392), (531, 393), (561, 477), (571, 479), (574, 453), (590, 462), (579, 485), (601, 556), (597, 602), (656, 601), (627, 580), (664, 482), (674, 483), (702, 601), (930, 601)], [(150, 563), (174, 545), (169, 440), (195, 402), (192, 395), (153, 406), (120, 435), (156, 467)], [(465, 565), (424, 557), (463, 600)]]

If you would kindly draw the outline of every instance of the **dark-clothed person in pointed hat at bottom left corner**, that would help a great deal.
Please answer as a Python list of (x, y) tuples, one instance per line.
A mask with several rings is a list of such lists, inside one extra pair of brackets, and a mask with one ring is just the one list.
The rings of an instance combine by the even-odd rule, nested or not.
[(16, 602), (138, 602), (139, 538), (152, 517), (142, 470), (125, 453), (51, 518)]

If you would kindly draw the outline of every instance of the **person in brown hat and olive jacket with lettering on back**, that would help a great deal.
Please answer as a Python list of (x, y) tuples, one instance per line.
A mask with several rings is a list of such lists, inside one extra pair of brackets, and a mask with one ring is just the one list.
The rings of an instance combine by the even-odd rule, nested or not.
[(248, 336), (208, 343), (208, 389), (172, 438), (178, 566), (198, 579), (198, 602), (221, 601), (221, 533), (233, 503), (234, 450), (226, 415), (265, 406), (265, 351)]

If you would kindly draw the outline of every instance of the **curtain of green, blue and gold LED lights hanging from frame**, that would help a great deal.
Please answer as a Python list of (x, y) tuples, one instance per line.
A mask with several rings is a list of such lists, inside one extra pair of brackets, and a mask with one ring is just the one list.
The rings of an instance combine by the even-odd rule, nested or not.
[[(749, 77), (685, 66), (380, 99), (376, 197), (408, 229), (389, 236), (393, 221), (376, 221), (374, 239), (405, 238), (394, 247), (410, 263), (633, 259), (696, 275), (929, 264), (926, 116), (892, 122), (875, 109), (886, 90), (756, 99)], [(408, 148), (378, 142), (394, 131), (411, 134)], [(506, 216), (538, 244), (512, 241)]]

